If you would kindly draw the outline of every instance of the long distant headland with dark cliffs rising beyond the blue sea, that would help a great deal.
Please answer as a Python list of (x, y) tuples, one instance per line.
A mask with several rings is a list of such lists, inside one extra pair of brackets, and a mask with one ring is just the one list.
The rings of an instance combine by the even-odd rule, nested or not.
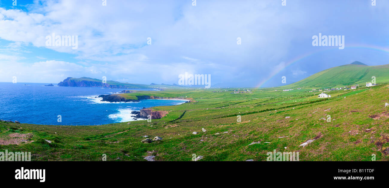
[(130, 83), (121, 83), (117, 81), (107, 81), (103, 83), (100, 79), (95, 78), (72, 78), (68, 77), (64, 79), (58, 86), (67, 86), (67, 87), (103, 87), (103, 88), (154, 88), (150, 85), (143, 84), (130, 84)]

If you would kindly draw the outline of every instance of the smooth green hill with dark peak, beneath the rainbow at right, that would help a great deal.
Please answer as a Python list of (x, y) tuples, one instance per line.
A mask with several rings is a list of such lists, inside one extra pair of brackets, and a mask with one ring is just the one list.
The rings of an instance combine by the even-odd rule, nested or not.
[(372, 76), (376, 77), (376, 83), (380, 84), (389, 81), (389, 64), (380, 66), (367, 66), (355, 61), (352, 64), (332, 67), (318, 72), (308, 78), (282, 86), (294, 87), (316, 87), (326, 88), (335, 86), (350, 86), (355, 84), (365, 84), (371, 82)]

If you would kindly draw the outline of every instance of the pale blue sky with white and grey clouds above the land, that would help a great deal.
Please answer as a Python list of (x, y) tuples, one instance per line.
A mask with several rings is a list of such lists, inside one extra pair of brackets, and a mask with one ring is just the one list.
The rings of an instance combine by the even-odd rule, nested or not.
[[(387, 10), (387, 0), (0, 0), (0, 81), (178, 84), (188, 72), (213, 87), (282, 86), (356, 60), (389, 64)], [(77, 36), (77, 48), (48, 43), (53, 33)], [(344, 36), (344, 49), (312, 45), (319, 33)]]

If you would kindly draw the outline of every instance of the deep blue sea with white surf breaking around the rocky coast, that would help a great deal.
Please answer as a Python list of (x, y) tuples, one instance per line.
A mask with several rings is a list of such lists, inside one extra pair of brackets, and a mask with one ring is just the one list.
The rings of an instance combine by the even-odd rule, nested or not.
[[(102, 98), (95, 97), (131, 89), (44, 86), (48, 84), (0, 82), (0, 119), (30, 124), (101, 125), (133, 121), (131, 111), (143, 107), (185, 102), (158, 99), (127, 103), (101, 102)], [(59, 115), (61, 122), (57, 121)]]

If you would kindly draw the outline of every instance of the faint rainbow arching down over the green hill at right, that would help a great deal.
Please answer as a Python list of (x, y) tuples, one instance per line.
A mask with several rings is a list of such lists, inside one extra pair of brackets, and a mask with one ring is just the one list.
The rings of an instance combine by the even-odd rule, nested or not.
[[(389, 53), (389, 48), (373, 46), (373, 45), (351, 44), (351, 45), (345, 45), (345, 48), (361, 48), (361, 49), (376, 50), (376, 51), (380, 51), (380, 52), (384, 52), (384, 53)], [(283, 64), (283, 66), (276, 67), (272, 72), (270, 72), (268, 79), (263, 79), (261, 82), (258, 83), (258, 85), (256, 85), (256, 88), (262, 87), (262, 85), (264, 85), (267, 81), (269, 81), (274, 76), (279, 74), (281, 71), (285, 70), (288, 66), (290, 66), (296, 62), (299, 62), (300, 60), (306, 59), (307, 57), (310, 57), (316, 53), (330, 51), (330, 50), (338, 50), (338, 48), (327, 48), (327, 49), (323, 49), (323, 50), (316, 50), (314, 52), (308, 52), (308, 53), (305, 53), (305, 54), (300, 55), (298, 57), (295, 57), (294, 59), (289, 60), (287, 62), (281, 62), (281, 64)]]

